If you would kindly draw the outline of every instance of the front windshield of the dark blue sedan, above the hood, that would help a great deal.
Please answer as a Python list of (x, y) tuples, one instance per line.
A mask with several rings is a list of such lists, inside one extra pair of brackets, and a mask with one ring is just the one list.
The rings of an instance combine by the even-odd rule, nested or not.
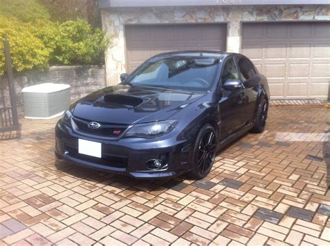
[(148, 60), (125, 83), (182, 90), (209, 90), (219, 60), (169, 57)]

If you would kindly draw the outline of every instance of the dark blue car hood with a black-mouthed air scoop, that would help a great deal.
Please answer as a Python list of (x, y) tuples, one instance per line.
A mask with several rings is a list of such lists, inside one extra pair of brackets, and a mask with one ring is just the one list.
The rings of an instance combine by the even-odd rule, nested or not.
[(97, 90), (72, 105), (74, 117), (95, 122), (135, 124), (166, 120), (205, 92), (116, 85)]

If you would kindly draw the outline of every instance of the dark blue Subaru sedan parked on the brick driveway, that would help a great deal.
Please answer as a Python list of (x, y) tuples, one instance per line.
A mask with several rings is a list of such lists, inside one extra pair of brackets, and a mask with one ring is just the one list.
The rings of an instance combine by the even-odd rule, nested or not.
[(241, 54), (159, 54), (120, 79), (63, 114), (58, 158), (141, 179), (203, 179), (221, 147), (265, 129), (267, 79)]

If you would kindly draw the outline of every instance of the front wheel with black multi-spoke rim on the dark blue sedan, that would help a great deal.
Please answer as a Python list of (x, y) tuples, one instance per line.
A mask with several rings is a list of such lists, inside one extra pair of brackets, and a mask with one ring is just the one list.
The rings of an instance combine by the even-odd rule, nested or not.
[(193, 179), (203, 179), (211, 171), (217, 151), (217, 133), (213, 126), (206, 124), (198, 132), (194, 149), (191, 153), (191, 170)]

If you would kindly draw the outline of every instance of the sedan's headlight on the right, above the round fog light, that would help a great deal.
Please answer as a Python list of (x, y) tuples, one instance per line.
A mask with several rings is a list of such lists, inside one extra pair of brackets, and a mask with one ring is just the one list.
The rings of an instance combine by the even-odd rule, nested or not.
[(164, 122), (135, 124), (127, 131), (125, 137), (156, 138), (172, 131), (177, 123), (176, 120), (166, 120)]

